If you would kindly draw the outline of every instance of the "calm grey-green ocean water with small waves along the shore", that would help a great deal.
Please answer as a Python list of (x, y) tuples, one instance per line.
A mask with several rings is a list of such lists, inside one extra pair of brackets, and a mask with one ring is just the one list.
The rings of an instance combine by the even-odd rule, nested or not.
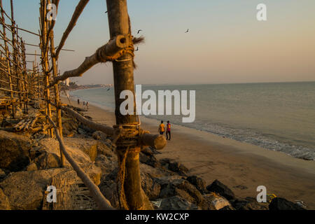
[[(148, 118), (315, 160), (315, 82), (142, 85), (142, 89), (196, 90), (194, 123), (182, 123), (183, 116)], [(71, 95), (115, 107), (113, 88), (76, 90)]]

